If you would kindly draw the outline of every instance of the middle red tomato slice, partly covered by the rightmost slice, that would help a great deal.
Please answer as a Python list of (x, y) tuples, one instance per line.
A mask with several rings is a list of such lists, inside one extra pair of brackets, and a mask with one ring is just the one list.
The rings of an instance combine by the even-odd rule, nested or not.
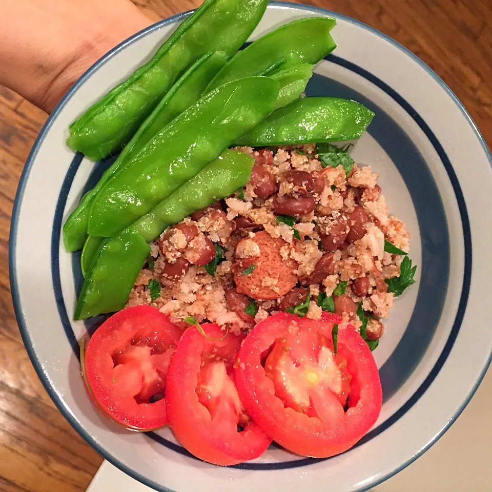
[[(203, 324), (209, 337), (223, 332)], [(244, 336), (222, 340), (189, 328), (179, 340), (168, 372), (166, 404), (176, 438), (190, 453), (216, 465), (257, 458), (271, 439), (250, 419), (239, 399), (233, 365)]]

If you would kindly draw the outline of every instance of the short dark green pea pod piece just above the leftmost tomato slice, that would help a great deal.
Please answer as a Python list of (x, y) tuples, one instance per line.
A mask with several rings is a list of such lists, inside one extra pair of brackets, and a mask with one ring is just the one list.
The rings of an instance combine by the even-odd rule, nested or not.
[(112, 313), (125, 307), (133, 283), (150, 253), (134, 228), (104, 239), (92, 262), (75, 308), (74, 319)]

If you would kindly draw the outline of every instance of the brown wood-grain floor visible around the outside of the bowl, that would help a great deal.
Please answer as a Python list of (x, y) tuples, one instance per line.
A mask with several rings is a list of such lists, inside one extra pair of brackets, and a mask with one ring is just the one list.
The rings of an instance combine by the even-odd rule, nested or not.
[[(198, 0), (133, 0), (152, 20)], [(462, 100), (492, 146), (491, 0), (305, 0), (398, 40)], [(0, 491), (85, 490), (102, 462), (59, 414), (39, 382), (15, 321), (8, 278), (17, 183), (46, 113), (0, 86)]]

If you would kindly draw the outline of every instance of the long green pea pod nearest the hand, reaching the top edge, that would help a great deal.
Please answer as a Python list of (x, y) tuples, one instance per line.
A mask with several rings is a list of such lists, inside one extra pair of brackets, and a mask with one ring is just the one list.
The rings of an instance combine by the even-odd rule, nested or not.
[(216, 50), (232, 56), (267, 4), (268, 0), (205, 0), (148, 63), (72, 123), (68, 146), (93, 160), (118, 152), (194, 61)]

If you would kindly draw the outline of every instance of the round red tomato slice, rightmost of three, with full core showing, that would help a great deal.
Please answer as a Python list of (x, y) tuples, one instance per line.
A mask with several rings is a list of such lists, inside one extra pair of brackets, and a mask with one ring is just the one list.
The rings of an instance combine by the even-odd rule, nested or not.
[(241, 401), (274, 441), (293, 453), (326, 458), (352, 447), (376, 422), (382, 405), (378, 368), (353, 326), (281, 313), (244, 340), (235, 381)]

